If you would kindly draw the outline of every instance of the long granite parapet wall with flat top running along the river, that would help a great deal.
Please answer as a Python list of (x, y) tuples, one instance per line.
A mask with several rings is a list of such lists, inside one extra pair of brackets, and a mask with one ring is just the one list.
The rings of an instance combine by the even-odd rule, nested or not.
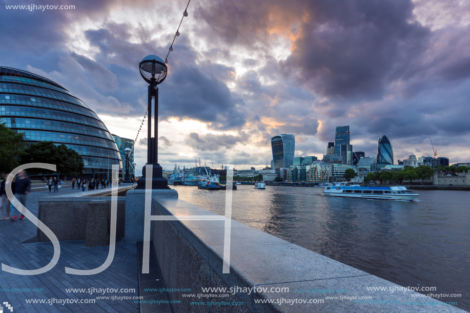
[[(220, 218), (213, 212), (179, 199), (153, 198), (152, 201), (154, 215)], [(152, 222), (151, 240), (165, 287), (191, 288), (187, 293), (169, 293), (170, 300), (181, 301), (173, 304), (175, 312), (464, 312), (432, 298), (412, 297), (417, 295), (415, 291), (368, 291), (367, 287), (403, 287), (233, 220), (229, 222), (232, 225), (230, 274), (224, 274), (222, 264), (226, 222), (229, 222), (226, 218)], [(202, 287), (234, 286), (256, 287), (259, 292), (248, 294), (240, 291), (235, 295), (230, 293), (227, 298), (182, 296), (203, 294)], [(275, 292), (276, 288), (289, 288), (289, 291), (284, 289)], [(347, 289), (348, 293), (335, 295), (294, 291), (315, 289)], [(372, 303), (371, 300), (371, 303), (357, 304), (339, 297), (326, 298), (331, 296), (371, 297), (376, 302)], [(442, 305), (404, 305), (404, 302), (416, 302), (416, 299)], [(190, 303), (211, 300), (243, 302), (243, 305), (210, 308)], [(257, 303), (258, 300), (273, 303)], [(317, 303), (309, 303), (311, 300)], [(291, 304), (292, 301), (297, 303)], [(306, 303), (299, 303), (303, 301)], [(377, 301), (393, 301), (393, 304), (377, 304)]]

